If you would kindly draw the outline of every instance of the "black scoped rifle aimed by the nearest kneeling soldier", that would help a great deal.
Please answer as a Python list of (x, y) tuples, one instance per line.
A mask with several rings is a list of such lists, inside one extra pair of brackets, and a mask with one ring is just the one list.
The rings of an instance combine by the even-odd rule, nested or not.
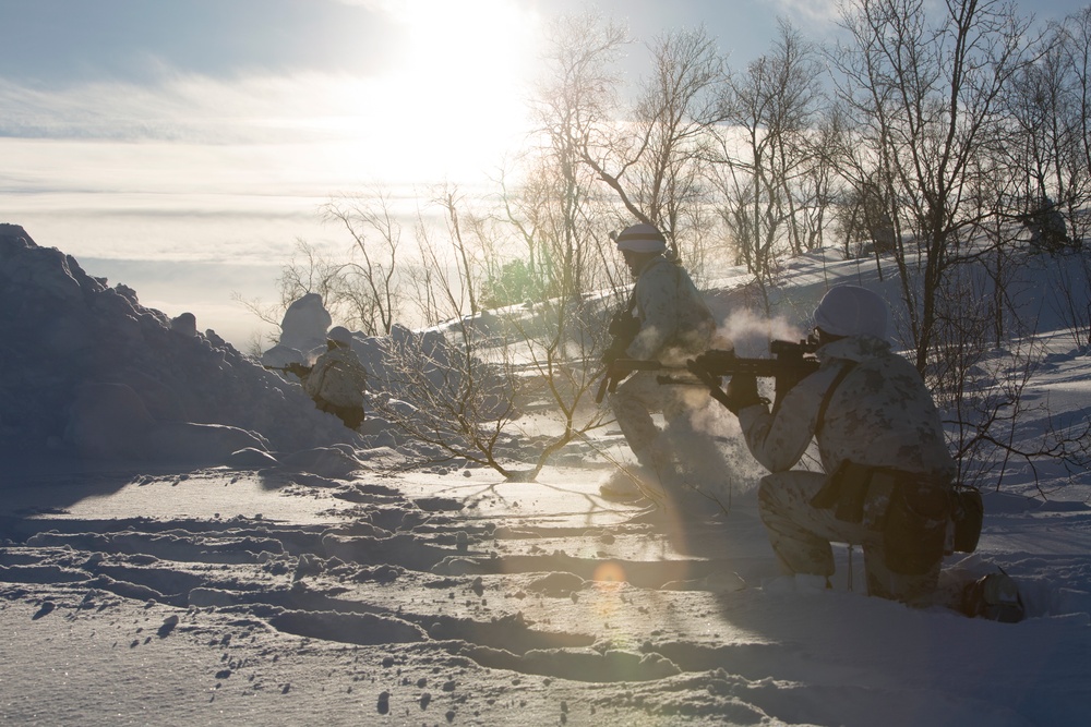
[[(611, 365), (608, 381), (612, 384), (613, 392), (616, 381), (634, 371), (686, 371), (693, 378), (660, 376), (660, 384), (704, 385), (712, 398), (727, 405), (727, 393), (720, 388), (720, 379), (724, 376), (756, 376), (775, 379), (776, 399), (774, 409), (780, 405), (783, 396), (804, 377), (818, 371), (818, 360), (812, 355), (818, 348), (816, 341), (804, 340), (799, 343), (791, 341), (771, 341), (769, 352), (772, 359), (744, 359), (734, 351), (712, 349), (686, 361), (684, 366), (671, 366), (658, 361), (642, 361), (637, 359), (618, 359)], [(601, 391), (601, 389), (600, 389)]]

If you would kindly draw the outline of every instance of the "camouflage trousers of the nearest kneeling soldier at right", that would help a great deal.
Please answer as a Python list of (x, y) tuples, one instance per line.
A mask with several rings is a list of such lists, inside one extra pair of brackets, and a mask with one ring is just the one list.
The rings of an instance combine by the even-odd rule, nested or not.
[(830, 543), (858, 545), (864, 552), (867, 593), (912, 604), (924, 604), (933, 595), (943, 558), (924, 573), (907, 575), (886, 565), (882, 523), (890, 504), (890, 492), (870, 492), (860, 523), (835, 517), (834, 509), (818, 509), (811, 499), (826, 475), (793, 470), (766, 475), (758, 489), (758, 511), (769, 533), (769, 543), (786, 574), (834, 574)]

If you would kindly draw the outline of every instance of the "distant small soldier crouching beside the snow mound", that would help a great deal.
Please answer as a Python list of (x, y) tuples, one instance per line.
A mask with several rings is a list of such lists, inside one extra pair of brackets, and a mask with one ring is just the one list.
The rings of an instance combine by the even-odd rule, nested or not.
[(368, 373), (351, 348), (352, 335), (335, 326), (326, 334), (326, 351), (301, 376), (314, 405), (336, 414), (350, 429), (363, 423), (363, 391)]

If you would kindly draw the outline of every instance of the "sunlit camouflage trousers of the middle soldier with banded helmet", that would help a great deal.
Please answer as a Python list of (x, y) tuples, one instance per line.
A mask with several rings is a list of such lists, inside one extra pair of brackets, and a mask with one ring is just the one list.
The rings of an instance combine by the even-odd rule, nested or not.
[[(610, 395), (610, 408), (633, 453), (666, 484), (692, 477), (723, 476), (727, 463), (709, 432), (694, 425), (693, 414), (708, 404), (703, 387), (661, 385), (652, 372), (637, 372)], [(661, 413), (660, 429), (654, 413)]]

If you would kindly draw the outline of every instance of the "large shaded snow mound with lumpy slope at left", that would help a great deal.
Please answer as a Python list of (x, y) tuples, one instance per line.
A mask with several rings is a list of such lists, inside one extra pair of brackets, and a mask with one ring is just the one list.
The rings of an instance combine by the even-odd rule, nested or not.
[(0, 225), (0, 340), (9, 462), (216, 464), (358, 436), (192, 314), (142, 306), (15, 225)]

